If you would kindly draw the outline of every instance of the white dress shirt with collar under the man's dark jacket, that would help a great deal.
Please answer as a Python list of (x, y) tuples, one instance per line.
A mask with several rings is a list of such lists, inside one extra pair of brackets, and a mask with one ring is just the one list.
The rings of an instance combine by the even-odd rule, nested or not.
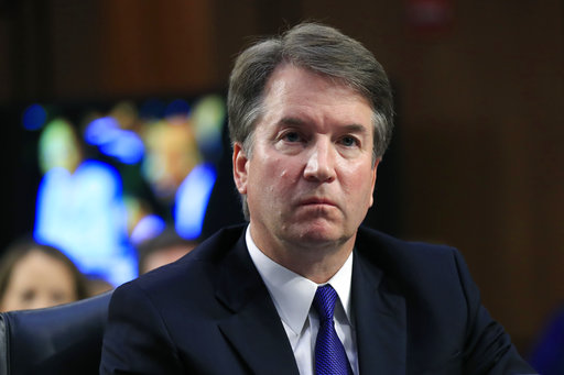
[[(315, 374), (315, 339), (319, 329), (319, 319), (312, 308), (312, 302), (315, 291), (321, 285), (297, 275), (264, 255), (254, 244), (249, 227), (247, 227), (245, 239), (252, 262), (267, 285), (282, 320), (294, 351), (300, 374)], [(352, 253), (326, 284), (330, 284), (339, 296), (335, 306), (335, 330), (345, 346), (352, 372), (358, 374), (356, 334), (350, 312), (351, 276)]]

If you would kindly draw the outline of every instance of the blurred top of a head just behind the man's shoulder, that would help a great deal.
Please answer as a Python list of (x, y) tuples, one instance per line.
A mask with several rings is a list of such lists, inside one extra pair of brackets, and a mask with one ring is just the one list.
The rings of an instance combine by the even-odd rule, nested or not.
[(147, 274), (165, 264), (180, 260), (197, 245), (180, 236), (172, 228), (166, 228), (152, 239), (148, 239), (138, 245), (139, 274)]

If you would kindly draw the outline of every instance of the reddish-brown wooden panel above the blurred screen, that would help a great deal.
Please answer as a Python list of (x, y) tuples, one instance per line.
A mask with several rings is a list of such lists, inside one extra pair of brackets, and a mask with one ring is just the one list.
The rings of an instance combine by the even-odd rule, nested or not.
[(101, 79), (113, 95), (194, 92), (220, 85), (207, 1), (102, 2)]

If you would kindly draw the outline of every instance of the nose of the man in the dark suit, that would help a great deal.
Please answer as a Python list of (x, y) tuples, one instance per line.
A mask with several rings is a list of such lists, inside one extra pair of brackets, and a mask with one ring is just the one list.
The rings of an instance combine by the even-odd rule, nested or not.
[(335, 179), (335, 150), (328, 141), (312, 145), (307, 153), (304, 177), (307, 180), (332, 181)]

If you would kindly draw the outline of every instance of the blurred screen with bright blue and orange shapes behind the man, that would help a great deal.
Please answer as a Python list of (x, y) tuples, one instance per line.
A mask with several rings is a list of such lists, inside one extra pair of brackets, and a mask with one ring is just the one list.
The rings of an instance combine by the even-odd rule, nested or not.
[[(35, 240), (63, 250), (90, 277), (112, 285), (135, 277), (135, 246), (167, 228), (199, 241), (241, 221), (224, 95), (31, 103), (19, 121), (26, 151), (14, 152), (35, 176), (22, 181), (33, 186), (32, 212), (19, 214), (33, 217)], [(210, 217), (213, 196), (235, 210)]]

